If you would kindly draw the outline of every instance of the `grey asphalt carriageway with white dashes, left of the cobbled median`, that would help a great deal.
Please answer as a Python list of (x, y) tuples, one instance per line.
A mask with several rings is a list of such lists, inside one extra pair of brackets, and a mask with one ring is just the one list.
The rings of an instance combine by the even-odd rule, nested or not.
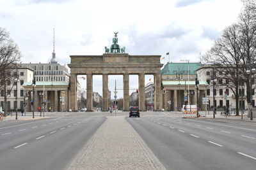
[(84, 115), (0, 127), (0, 169), (66, 169), (106, 117)]

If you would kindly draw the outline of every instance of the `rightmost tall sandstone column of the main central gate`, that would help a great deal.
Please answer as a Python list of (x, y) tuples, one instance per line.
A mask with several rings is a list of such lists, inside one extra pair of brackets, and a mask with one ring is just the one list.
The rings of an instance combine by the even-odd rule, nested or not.
[(161, 90), (161, 74), (154, 74), (154, 81), (156, 82), (156, 106), (157, 110), (161, 111), (163, 108), (163, 94)]

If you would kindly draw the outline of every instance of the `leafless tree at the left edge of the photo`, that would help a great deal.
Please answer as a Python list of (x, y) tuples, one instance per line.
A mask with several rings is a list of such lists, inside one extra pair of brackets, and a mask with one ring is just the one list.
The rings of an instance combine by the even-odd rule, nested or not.
[(6, 86), (13, 78), (12, 71), (19, 59), (20, 52), (17, 44), (10, 38), (9, 33), (0, 27), (0, 89), (1, 93), (4, 93), (4, 116), (6, 116)]

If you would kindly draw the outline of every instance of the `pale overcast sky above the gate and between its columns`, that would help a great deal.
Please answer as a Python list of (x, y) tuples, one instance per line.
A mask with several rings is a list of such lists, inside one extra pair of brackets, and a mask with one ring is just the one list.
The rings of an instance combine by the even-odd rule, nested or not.
[[(164, 64), (170, 52), (171, 62), (199, 62), (241, 8), (240, 0), (1, 0), (0, 27), (19, 45), (22, 62), (51, 60), (53, 28), (60, 64), (70, 63), (69, 55), (102, 55), (113, 32), (130, 55), (162, 55)], [(93, 78), (93, 91), (102, 94), (102, 76)], [(115, 80), (122, 88), (122, 76), (109, 76), (112, 94)], [(130, 76), (130, 87), (138, 88), (138, 76)]]

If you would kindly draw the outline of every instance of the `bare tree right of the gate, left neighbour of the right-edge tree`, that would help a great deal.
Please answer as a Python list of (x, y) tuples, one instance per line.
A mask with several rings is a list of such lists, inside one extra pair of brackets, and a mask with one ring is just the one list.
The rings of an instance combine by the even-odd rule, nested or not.
[[(239, 80), (241, 79), (241, 45), (239, 43), (239, 25), (227, 27), (202, 60), (212, 64), (214, 74), (219, 80), (225, 80), (225, 86), (232, 90), (236, 97), (236, 115), (239, 115)], [(218, 74), (216, 74), (218, 73)], [(224, 84), (219, 84), (223, 86)]]

